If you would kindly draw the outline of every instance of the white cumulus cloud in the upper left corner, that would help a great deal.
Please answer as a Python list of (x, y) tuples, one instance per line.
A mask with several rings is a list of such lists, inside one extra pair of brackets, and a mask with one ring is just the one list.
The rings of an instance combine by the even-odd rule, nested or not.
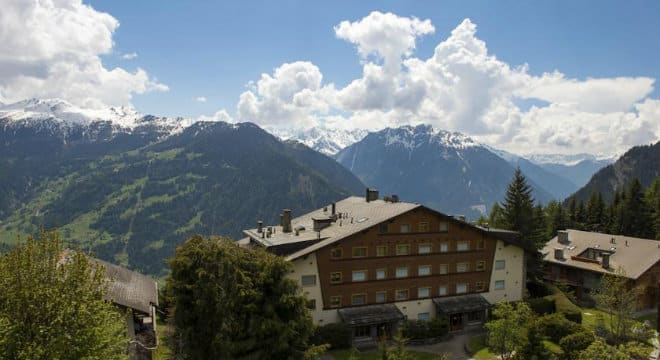
[(166, 91), (143, 69), (104, 67), (119, 26), (81, 0), (7, 0), (0, 12), (0, 100), (63, 98), (79, 106), (129, 104), (133, 94)]

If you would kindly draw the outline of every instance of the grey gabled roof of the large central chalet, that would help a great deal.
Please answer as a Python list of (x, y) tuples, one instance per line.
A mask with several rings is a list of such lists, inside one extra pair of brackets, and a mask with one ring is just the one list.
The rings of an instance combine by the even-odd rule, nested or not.
[[(244, 230), (243, 233), (247, 238), (240, 240), (240, 243), (245, 245), (251, 239), (273, 252), (286, 256), (287, 260), (294, 260), (413, 209), (425, 208), (452, 221), (472, 226), (489, 236), (520, 246), (517, 232), (475, 226), (420, 204), (384, 200), (366, 201), (365, 197), (352, 196), (338, 201), (335, 205), (338, 218), (320, 232), (314, 231), (314, 219), (327, 220), (332, 215), (331, 205), (292, 219), (291, 232), (283, 232), (281, 225), (266, 226), (261, 233), (257, 228)], [(270, 236), (266, 235), (268, 228), (272, 230)]]

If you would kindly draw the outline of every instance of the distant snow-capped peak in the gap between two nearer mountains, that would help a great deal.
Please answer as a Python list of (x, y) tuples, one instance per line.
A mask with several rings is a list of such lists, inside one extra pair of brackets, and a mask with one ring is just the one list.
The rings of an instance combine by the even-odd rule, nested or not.
[(362, 140), (369, 132), (363, 129), (332, 129), (315, 127), (308, 130), (267, 129), (282, 140), (295, 140), (326, 154), (334, 155), (341, 149)]

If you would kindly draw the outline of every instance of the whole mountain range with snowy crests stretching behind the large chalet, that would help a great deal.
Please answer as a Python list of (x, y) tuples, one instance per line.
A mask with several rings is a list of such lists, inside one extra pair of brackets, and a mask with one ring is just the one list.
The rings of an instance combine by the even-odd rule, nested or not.
[(578, 188), (547, 163), (427, 125), (270, 132), (130, 107), (0, 104), (0, 242), (58, 228), (102, 259), (162, 275), (190, 234), (237, 238), (282, 208), (304, 212), (366, 185), (472, 218), (502, 200), (516, 166), (540, 202)]

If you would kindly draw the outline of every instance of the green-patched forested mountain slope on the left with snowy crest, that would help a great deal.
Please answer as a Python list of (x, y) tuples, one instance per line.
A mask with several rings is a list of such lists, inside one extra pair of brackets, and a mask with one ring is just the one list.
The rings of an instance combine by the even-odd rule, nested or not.
[(307, 211), (364, 190), (333, 159), (250, 123), (172, 131), (149, 116), (128, 130), (25, 119), (0, 118), (0, 242), (56, 227), (154, 275), (193, 233), (238, 237), (257, 220), (277, 222), (284, 207)]

